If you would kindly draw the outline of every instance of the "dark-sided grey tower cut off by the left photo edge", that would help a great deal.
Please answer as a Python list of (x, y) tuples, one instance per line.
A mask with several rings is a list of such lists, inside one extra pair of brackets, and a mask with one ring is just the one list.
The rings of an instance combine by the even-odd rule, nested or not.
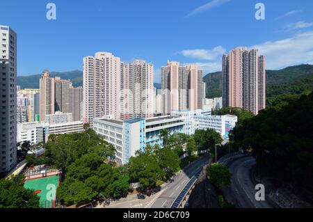
[(17, 163), (17, 34), (0, 25), (0, 174)]

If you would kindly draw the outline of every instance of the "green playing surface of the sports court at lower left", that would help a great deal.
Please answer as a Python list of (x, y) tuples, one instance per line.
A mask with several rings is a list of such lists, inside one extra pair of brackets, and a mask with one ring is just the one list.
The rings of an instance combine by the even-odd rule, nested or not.
[[(34, 180), (27, 180), (24, 183), (26, 189), (32, 189), (40, 197), (40, 207), (42, 208), (51, 208), (53, 207), (52, 200), (47, 200), (47, 193), (51, 191), (52, 187), (58, 187), (58, 175), (51, 177), (42, 177)], [(49, 185), (49, 186), (48, 186)], [(55, 193), (54, 193), (55, 196)]]

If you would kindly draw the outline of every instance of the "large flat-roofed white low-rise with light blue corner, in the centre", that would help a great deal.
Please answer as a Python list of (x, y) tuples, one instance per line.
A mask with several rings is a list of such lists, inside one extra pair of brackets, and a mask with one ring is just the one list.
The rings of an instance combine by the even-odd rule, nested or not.
[(129, 120), (94, 119), (93, 129), (115, 147), (115, 160), (127, 164), (137, 151), (144, 152), (147, 144), (163, 147), (161, 129), (169, 134), (182, 133), (184, 118), (160, 116), (155, 118), (132, 118)]

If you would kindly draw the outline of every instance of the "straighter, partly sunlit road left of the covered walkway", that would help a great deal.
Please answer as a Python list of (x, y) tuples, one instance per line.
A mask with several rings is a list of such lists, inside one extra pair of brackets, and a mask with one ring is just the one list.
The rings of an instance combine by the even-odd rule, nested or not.
[(174, 182), (168, 184), (166, 190), (154, 201), (151, 208), (170, 208), (191, 177), (202, 171), (203, 166), (208, 163), (209, 155), (205, 155), (187, 166), (184, 171), (174, 178)]

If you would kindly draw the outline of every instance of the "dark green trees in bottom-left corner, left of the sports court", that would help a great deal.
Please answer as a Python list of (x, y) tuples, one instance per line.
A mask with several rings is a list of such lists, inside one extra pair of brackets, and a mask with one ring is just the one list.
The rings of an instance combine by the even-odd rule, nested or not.
[(0, 208), (38, 208), (39, 197), (24, 188), (22, 176), (0, 180)]

